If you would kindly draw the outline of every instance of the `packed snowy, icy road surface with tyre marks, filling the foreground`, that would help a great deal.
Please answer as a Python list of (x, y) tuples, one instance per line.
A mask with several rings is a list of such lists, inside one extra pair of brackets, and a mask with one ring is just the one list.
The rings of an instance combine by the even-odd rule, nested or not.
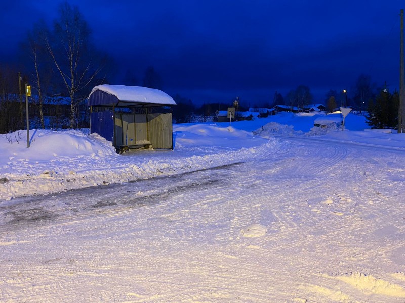
[(403, 302), (403, 150), (266, 157), (0, 207), (0, 301)]

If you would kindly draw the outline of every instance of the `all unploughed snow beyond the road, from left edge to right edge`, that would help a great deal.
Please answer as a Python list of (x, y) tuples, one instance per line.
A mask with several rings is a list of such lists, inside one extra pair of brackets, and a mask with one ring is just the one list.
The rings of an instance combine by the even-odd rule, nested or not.
[[(361, 128), (364, 118), (352, 116), (360, 119), (354, 128)], [(338, 131), (335, 124), (313, 127), (313, 122), (322, 117), (326, 116), (281, 113), (255, 121), (234, 122), (231, 127), (228, 123), (174, 125), (174, 150), (133, 151), (124, 155), (116, 154), (111, 142), (99, 135), (77, 130), (31, 130), (29, 148), (26, 131), (3, 134), (0, 200), (248, 161), (282, 148), (282, 140), (274, 136), (317, 136), (323, 140), (405, 149), (405, 134)], [(349, 117), (347, 125), (356, 125)]]

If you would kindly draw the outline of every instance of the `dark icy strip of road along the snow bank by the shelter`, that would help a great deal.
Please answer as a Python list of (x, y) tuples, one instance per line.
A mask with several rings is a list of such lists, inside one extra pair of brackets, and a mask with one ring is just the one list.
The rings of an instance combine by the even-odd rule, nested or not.
[[(161, 204), (161, 201), (169, 199), (171, 196), (177, 195), (185, 190), (197, 191), (202, 187), (215, 188), (221, 186), (220, 178), (212, 177), (211, 171), (215, 171), (221, 176), (224, 172), (226, 173), (227, 170), (237, 165), (240, 165), (240, 163), (197, 170), (175, 176), (156, 177), (119, 185), (74, 190), (58, 195), (50, 194), (42, 197), (16, 198), (16, 203), (0, 208), (0, 215), (2, 215), (0, 232), (2, 225), (7, 225), (7, 229), (10, 229), (10, 225), (19, 228), (18, 226), (25, 224), (47, 224), (48, 221), (55, 219), (58, 219), (58, 221), (73, 219), (72, 222), (77, 223), (82, 220), (80, 218), (87, 220), (87, 217), (94, 212), (100, 215), (112, 213), (112, 216), (116, 216), (121, 212), (131, 212), (140, 207), (164, 207), (166, 204)], [(221, 170), (224, 172), (221, 172)], [(145, 182), (148, 184), (148, 187), (145, 193), (141, 193), (136, 185), (142, 186)], [(159, 188), (159, 190), (156, 190), (156, 188)], [(111, 189), (115, 190), (113, 195), (109, 193)], [(100, 191), (100, 193), (94, 197), (94, 203), (91, 205), (80, 203), (80, 201), (85, 199), (86, 196), (93, 191)], [(70, 197), (77, 194), (79, 194), (80, 197), (75, 198), (77, 202), (75, 204), (75, 201), (71, 201)], [(114, 197), (117, 194), (123, 196), (117, 199)], [(50, 205), (52, 205), (52, 207), (50, 207)], [(52, 209), (52, 211), (50, 212), (48, 209)], [(93, 218), (90, 220), (97, 219)]]

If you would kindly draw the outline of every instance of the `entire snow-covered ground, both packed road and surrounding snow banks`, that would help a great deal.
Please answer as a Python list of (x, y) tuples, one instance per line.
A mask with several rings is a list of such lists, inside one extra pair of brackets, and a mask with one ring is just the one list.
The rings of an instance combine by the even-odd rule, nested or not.
[(317, 118), (0, 135), (0, 301), (404, 302), (405, 135)]

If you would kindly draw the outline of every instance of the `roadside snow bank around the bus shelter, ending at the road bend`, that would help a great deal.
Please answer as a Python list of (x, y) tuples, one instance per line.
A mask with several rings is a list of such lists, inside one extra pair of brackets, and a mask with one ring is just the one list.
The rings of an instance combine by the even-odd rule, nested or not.
[[(268, 154), (276, 139), (216, 125), (175, 127), (175, 150), (118, 155), (112, 143), (79, 131), (0, 135), (0, 200), (207, 169)], [(214, 148), (215, 147), (215, 148)]]

